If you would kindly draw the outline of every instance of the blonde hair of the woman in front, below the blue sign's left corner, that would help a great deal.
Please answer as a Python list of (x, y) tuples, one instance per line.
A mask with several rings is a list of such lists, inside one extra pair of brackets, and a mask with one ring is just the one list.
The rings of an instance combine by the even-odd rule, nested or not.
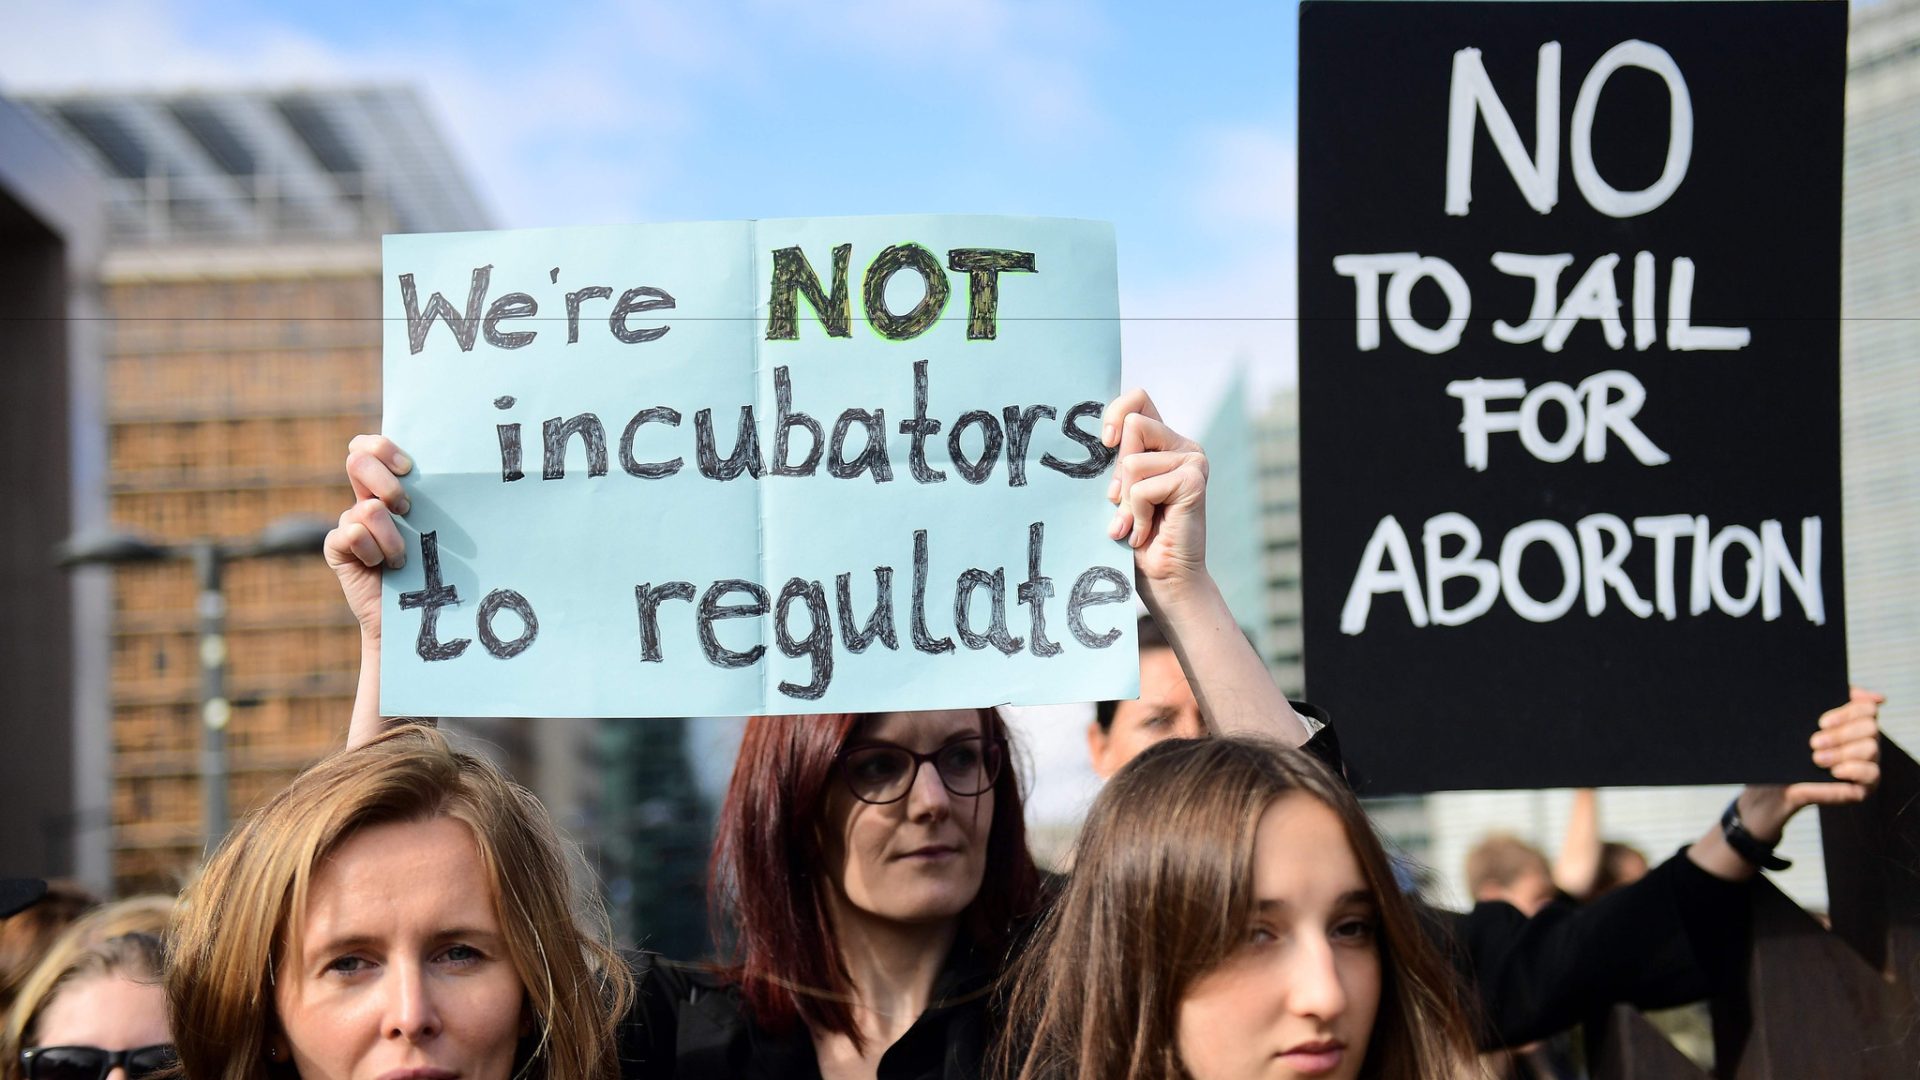
[(501, 936), (538, 1024), (515, 1074), (614, 1076), (614, 1028), (634, 980), (609, 945), (605, 913), (589, 911), (593, 932), (576, 922), (566, 847), (540, 799), (420, 724), (296, 776), (227, 836), (180, 896), (165, 988), (188, 1076), (269, 1076), (273, 969), (300, 940), (315, 869), (361, 828), (442, 817), (474, 834)]

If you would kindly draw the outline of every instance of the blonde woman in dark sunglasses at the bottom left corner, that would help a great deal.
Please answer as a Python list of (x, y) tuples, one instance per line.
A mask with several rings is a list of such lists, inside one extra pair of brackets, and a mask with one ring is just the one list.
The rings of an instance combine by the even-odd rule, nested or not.
[(148, 1080), (173, 1068), (159, 938), (121, 934), (48, 959), (8, 1013), (8, 1080)]

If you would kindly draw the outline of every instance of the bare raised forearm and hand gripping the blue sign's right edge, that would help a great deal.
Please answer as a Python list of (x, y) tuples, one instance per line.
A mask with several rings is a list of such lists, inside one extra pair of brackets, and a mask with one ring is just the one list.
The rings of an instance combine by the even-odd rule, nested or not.
[(1215, 732), (1260, 734), (1288, 746), (1308, 740), (1306, 723), (1240, 632), (1206, 569), (1206, 454), (1175, 432), (1144, 390), (1127, 390), (1100, 419), (1102, 440), (1119, 448), (1108, 502), (1117, 509), (1108, 536), (1133, 548), (1140, 600), (1187, 671), (1200, 715)]

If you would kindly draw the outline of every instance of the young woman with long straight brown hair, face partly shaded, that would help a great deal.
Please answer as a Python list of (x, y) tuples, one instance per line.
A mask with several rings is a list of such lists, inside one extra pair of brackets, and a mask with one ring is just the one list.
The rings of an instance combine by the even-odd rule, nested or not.
[(1018, 969), (1020, 1080), (1465, 1076), (1452, 970), (1311, 755), (1164, 742), (1100, 792)]

